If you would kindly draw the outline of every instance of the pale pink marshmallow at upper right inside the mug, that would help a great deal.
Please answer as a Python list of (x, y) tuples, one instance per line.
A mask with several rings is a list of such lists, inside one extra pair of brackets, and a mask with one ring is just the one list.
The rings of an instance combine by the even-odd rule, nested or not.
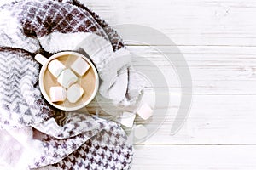
[(73, 71), (79, 74), (80, 77), (84, 75), (86, 71), (90, 68), (90, 65), (81, 57), (76, 59), (73, 64), (70, 66)]

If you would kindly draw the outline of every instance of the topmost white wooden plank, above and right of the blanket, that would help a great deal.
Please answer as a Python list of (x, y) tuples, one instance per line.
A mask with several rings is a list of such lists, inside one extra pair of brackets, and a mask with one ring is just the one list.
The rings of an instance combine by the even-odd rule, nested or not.
[[(253, 0), (84, 2), (110, 26), (127, 23), (150, 26), (165, 33), (177, 45), (256, 45), (256, 22), (252, 19), (256, 2)], [(122, 34), (122, 30), (118, 31)], [(130, 37), (142, 35), (143, 32), (135, 31)], [(159, 37), (153, 37), (161, 44)]]

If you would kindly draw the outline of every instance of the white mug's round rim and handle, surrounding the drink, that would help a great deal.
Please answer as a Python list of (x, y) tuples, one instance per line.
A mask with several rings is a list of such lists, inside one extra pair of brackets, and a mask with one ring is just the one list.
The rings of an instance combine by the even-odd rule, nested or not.
[[(81, 57), (84, 60), (87, 61), (87, 63), (90, 65), (90, 67), (93, 69), (93, 72), (95, 74), (95, 87), (94, 87), (94, 91), (93, 93), (90, 95), (89, 99), (86, 99), (85, 101), (82, 102), (81, 105), (75, 105), (75, 106), (63, 106), (63, 105), (57, 105), (56, 103), (53, 103), (51, 101), (51, 99), (49, 98), (49, 94), (46, 93), (46, 90), (44, 88), (44, 73), (47, 70), (48, 64), (51, 60), (53, 59), (57, 59), (63, 55), (75, 55), (77, 57)], [(79, 54), (76, 52), (72, 52), (72, 51), (66, 51), (66, 52), (60, 52), (57, 54), (54, 54), (52, 56), (49, 57), (49, 59), (45, 58), (42, 54), (37, 54), (35, 56), (35, 59), (41, 64), (43, 65), (40, 73), (39, 73), (39, 88), (41, 90), (41, 93), (44, 96), (44, 99), (46, 99), (50, 105), (53, 105), (55, 108), (60, 109), (62, 111), (75, 111), (75, 110), (79, 110), (81, 108), (83, 108), (84, 106), (88, 105), (90, 103), (90, 101), (92, 99), (94, 99), (94, 97), (96, 96), (97, 90), (99, 88), (99, 76), (98, 73), (96, 71), (96, 67), (91, 63), (90, 59), (86, 58), (83, 54)]]

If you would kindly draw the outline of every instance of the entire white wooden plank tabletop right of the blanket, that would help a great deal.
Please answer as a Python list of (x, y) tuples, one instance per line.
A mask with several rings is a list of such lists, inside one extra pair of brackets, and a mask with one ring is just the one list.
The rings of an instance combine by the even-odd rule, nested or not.
[[(170, 135), (181, 95), (177, 82), (170, 80), (170, 94), (158, 94), (172, 100), (166, 122), (144, 144), (135, 145), (133, 170), (256, 169), (256, 1), (86, 2), (110, 26), (140, 24), (165, 33), (192, 74), (187, 122)], [(134, 53), (159, 59), (147, 46), (127, 45)]]

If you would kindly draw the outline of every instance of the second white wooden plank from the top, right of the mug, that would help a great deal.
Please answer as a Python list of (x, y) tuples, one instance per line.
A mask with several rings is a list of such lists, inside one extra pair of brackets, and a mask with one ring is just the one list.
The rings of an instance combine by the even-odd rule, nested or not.
[[(189, 67), (193, 94), (256, 94), (255, 47), (131, 46), (128, 49), (137, 55), (133, 61), (139, 71), (151, 74), (153, 78), (159, 74), (166, 77), (167, 86), (161, 83), (156, 84), (157, 86), (148, 85), (145, 93), (150, 93), (153, 88), (159, 94), (181, 93), (181, 77), (177, 75), (173, 62), (168, 62), (157, 51), (160, 49), (174, 59), (173, 56), (179, 55), (177, 48), (187, 62), (187, 65), (177, 67)], [(147, 60), (156, 66), (148, 65)]]

